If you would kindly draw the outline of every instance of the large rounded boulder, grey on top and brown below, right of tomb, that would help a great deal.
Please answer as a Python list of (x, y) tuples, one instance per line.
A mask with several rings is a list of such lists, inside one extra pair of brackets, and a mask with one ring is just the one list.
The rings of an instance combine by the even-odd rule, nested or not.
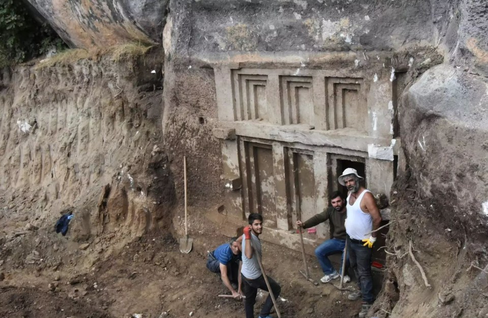
[(449, 221), (481, 239), (488, 226), (488, 81), (435, 67), (406, 93), (402, 117), (420, 192), (444, 201)]

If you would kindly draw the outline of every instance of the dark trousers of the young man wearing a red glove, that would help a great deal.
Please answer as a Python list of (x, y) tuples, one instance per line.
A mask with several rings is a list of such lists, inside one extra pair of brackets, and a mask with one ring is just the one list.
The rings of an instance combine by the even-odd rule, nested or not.
[[(280, 285), (271, 277), (268, 276), (269, 285), (273, 291), (275, 299), (278, 300), (278, 296), (281, 292)], [(258, 289), (269, 292), (266, 286), (266, 281), (264, 281), (264, 276), (261, 274), (256, 279), (248, 279), (242, 275), (242, 282), (244, 284), (244, 296), (246, 296), (245, 307), (246, 307), (246, 318), (254, 318), (254, 304), (256, 303), (256, 295), (258, 294)], [(271, 296), (268, 295), (266, 301), (264, 302), (263, 308), (259, 313), (260, 317), (265, 317), (269, 315), (271, 308), (273, 307), (273, 301)]]

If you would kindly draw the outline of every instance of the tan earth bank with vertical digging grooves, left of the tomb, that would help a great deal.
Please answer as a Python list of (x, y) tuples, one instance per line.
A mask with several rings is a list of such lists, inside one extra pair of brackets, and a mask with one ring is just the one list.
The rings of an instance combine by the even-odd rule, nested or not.
[(141, 235), (169, 213), (175, 194), (161, 149), (162, 76), (151, 73), (161, 69), (160, 54), (145, 56), (138, 76), (109, 60), (4, 70), (7, 219), (28, 213), (50, 227), (73, 206), (73, 239), (87, 240), (112, 231)]

